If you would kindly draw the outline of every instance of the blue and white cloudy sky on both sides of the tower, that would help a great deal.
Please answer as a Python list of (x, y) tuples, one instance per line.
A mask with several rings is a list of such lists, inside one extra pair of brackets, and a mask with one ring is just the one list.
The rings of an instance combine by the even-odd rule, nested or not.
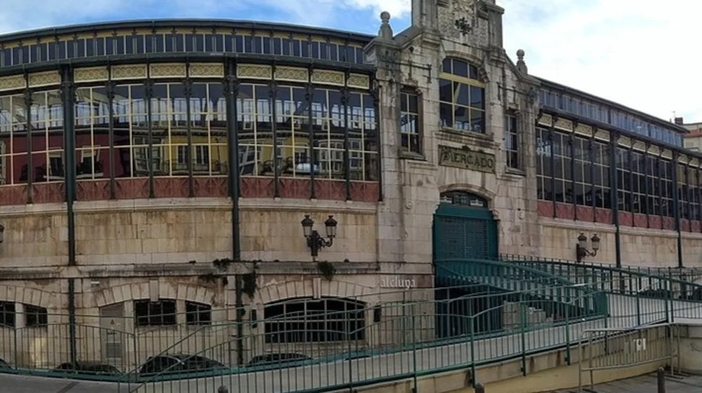
[[(700, 0), (497, 0), (504, 46), (529, 74), (633, 109), (702, 121), (694, 37)], [(376, 34), (380, 11), (395, 32), (411, 0), (0, 0), (0, 33), (108, 20), (266, 20)]]

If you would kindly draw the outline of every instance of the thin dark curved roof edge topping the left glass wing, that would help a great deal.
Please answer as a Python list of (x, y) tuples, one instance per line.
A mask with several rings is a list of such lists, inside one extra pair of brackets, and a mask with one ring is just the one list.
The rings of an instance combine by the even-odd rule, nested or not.
[(328, 29), (323, 27), (310, 27), (303, 25), (291, 25), (275, 22), (258, 22), (255, 20), (228, 20), (228, 19), (206, 19), (206, 18), (163, 18), (154, 20), (122, 20), (112, 22), (84, 23), (80, 25), (67, 25), (60, 27), (45, 27), (42, 29), (32, 29), (22, 32), (13, 32), (0, 35), (0, 43), (9, 41), (37, 39), (44, 36), (55, 36), (65, 34), (77, 34), (93, 31), (105, 31), (110, 29), (148, 29), (148, 28), (170, 28), (170, 27), (196, 27), (206, 29), (249, 29), (249, 30), (270, 30), (272, 32), (291, 32), (298, 34), (320, 34), (333, 36), (338, 39), (349, 39), (352, 41), (369, 42), (373, 36), (369, 34), (359, 34), (343, 30)]

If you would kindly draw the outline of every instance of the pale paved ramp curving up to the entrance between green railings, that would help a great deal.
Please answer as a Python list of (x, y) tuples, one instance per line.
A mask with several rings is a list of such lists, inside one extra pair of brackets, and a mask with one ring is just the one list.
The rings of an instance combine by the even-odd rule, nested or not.
[[(665, 319), (666, 314), (701, 319), (702, 304), (681, 301), (666, 302), (656, 299), (630, 298), (610, 295), (610, 317), (570, 326), (550, 327), (524, 334), (515, 333), (500, 338), (476, 340), (474, 343), (458, 343), (431, 347), (416, 351), (380, 355), (354, 361), (336, 361), (304, 367), (287, 368), (257, 373), (213, 376), (194, 380), (157, 382), (148, 385), (117, 385), (115, 383), (77, 382), (51, 378), (0, 375), (2, 392), (140, 392), (140, 393), (208, 393), (216, 392), (225, 385), (230, 392), (298, 392), (319, 387), (333, 387), (348, 382), (368, 380), (411, 378), (415, 371), (467, 368), (472, 359), (496, 361), (515, 357), (522, 353), (557, 347), (565, 343), (577, 345), (586, 329), (629, 328), (637, 324), (650, 324)], [(639, 317), (637, 317), (639, 310)], [(574, 321), (575, 322), (575, 321)], [(577, 347), (574, 347), (577, 350)], [(70, 385), (70, 386), (69, 386)], [(13, 389), (11, 389), (11, 387)], [(30, 389), (31, 388), (31, 389)]]

